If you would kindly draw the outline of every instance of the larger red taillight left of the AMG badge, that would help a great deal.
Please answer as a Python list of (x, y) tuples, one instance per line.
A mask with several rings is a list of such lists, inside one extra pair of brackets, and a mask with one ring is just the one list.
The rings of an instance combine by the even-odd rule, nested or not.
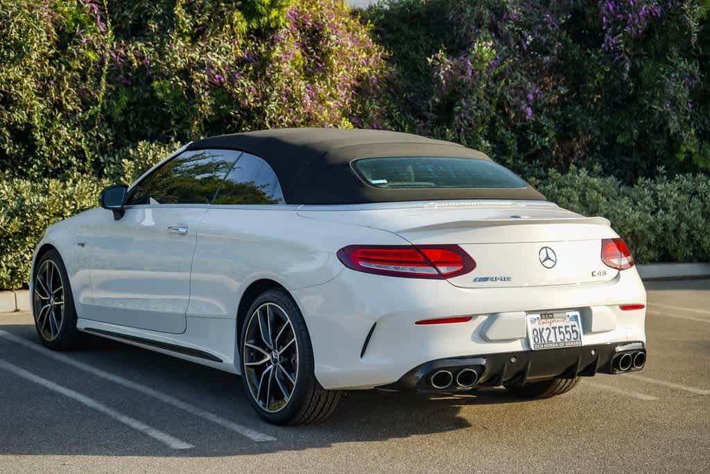
[(476, 268), (458, 245), (349, 245), (338, 258), (353, 270), (406, 278), (452, 278)]

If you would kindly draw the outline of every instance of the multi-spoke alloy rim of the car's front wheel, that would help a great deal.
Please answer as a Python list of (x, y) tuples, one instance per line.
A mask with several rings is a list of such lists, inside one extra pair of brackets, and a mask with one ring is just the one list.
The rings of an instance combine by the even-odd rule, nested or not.
[(33, 298), (40, 335), (47, 341), (55, 340), (64, 323), (65, 291), (62, 274), (52, 260), (45, 260), (35, 274)]

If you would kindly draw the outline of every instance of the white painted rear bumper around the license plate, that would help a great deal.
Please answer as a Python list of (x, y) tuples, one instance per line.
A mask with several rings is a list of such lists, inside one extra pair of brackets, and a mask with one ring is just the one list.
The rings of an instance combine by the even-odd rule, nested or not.
[[(326, 284), (291, 293), (310, 333), (315, 375), (326, 389), (393, 384), (413, 367), (440, 359), (528, 351), (525, 312), (579, 310), (585, 349), (645, 343), (645, 309), (618, 306), (646, 301), (635, 268), (599, 284), (499, 289), (344, 269)], [(415, 325), (467, 315), (466, 323)]]

